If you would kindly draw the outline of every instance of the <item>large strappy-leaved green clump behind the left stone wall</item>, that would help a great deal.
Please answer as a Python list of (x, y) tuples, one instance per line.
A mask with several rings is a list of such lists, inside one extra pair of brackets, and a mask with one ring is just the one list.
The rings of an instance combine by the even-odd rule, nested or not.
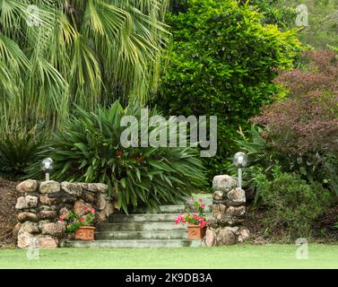
[[(140, 204), (157, 207), (176, 203), (191, 195), (195, 185), (204, 182), (202, 163), (192, 148), (128, 147), (120, 143), (125, 115), (134, 116), (141, 125), (141, 107), (132, 104), (123, 109), (116, 101), (109, 109), (97, 113), (78, 109), (41, 157), (55, 161), (53, 179), (108, 184), (109, 194), (117, 196), (127, 213)], [(149, 117), (156, 115), (149, 110)], [(156, 127), (149, 128), (149, 132)], [(141, 128), (138, 128), (139, 133)], [(140, 135), (140, 134), (139, 134)], [(139, 141), (140, 143), (140, 141)], [(30, 170), (30, 177), (39, 174), (39, 165)]]

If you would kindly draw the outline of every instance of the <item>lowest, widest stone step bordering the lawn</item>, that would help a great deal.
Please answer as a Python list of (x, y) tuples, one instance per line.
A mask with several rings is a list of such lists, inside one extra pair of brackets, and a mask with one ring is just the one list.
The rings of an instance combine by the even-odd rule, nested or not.
[(65, 241), (66, 248), (187, 248), (201, 246), (201, 240), (187, 239), (126, 239), (126, 240), (94, 240)]

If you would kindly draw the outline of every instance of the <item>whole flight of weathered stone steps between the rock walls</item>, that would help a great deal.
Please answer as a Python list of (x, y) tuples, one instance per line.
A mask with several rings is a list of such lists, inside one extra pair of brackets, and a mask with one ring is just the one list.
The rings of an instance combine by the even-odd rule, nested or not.
[[(212, 196), (195, 197), (205, 204), (205, 215), (212, 217)], [(201, 240), (188, 240), (186, 226), (175, 224), (175, 217), (193, 210), (186, 202), (161, 205), (160, 211), (137, 209), (129, 216), (111, 214), (97, 225), (94, 241), (68, 240), (67, 248), (179, 248), (201, 246)]]

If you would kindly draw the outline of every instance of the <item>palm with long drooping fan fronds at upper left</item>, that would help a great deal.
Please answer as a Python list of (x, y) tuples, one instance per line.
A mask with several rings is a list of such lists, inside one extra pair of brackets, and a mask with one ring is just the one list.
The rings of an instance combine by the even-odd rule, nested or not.
[(55, 128), (73, 104), (147, 100), (168, 0), (0, 0), (0, 129)]

